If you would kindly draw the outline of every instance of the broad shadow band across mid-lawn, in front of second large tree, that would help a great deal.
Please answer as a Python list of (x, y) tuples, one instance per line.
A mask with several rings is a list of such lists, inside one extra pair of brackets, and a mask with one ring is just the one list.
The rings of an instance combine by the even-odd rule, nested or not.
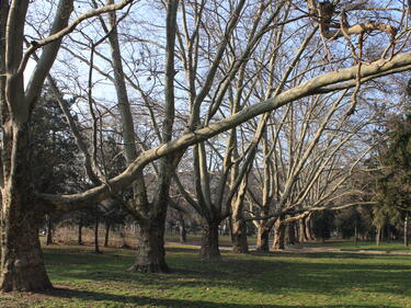
[(362, 292), (386, 295), (403, 296), (409, 293), (406, 287), (409, 278), (407, 275), (399, 274), (408, 270), (407, 265), (252, 260), (231, 260), (224, 264), (198, 262), (173, 265), (173, 271), (170, 274), (140, 274), (105, 267), (105, 271), (88, 269), (81, 273), (66, 273), (64, 276), (98, 282), (109, 278), (107, 283), (112, 281), (130, 286), (145, 285), (152, 289), (161, 284), (164, 289), (198, 286), (222, 289), (233, 287), (237, 289), (252, 288), (264, 294), (275, 294), (278, 289), (287, 289), (288, 292), (344, 296), (345, 293), (350, 294), (353, 287), (362, 289)]

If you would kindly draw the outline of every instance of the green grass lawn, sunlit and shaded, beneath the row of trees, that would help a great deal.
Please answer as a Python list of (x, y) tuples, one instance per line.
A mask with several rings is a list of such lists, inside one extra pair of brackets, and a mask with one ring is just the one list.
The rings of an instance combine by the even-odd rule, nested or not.
[(45, 248), (57, 290), (0, 294), (0, 307), (411, 307), (411, 256), (350, 253), (224, 253), (168, 248), (170, 274), (127, 272), (135, 251)]

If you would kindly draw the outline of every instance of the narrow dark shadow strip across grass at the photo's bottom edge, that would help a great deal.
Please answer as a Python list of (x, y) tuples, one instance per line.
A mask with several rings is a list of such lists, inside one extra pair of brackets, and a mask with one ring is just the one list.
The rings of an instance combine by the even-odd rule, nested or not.
[[(210, 303), (206, 300), (184, 300), (184, 299), (167, 299), (167, 298), (152, 298), (146, 296), (133, 296), (133, 295), (114, 295), (107, 293), (99, 293), (99, 292), (90, 292), (90, 290), (79, 290), (79, 289), (69, 289), (69, 288), (55, 288), (54, 290), (44, 293), (47, 296), (57, 297), (57, 298), (76, 298), (76, 299), (84, 299), (84, 300), (93, 300), (93, 301), (102, 301), (102, 305), (118, 305), (115, 307), (122, 307), (122, 305), (126, 305), (127, 307), (140, 307), (142, 305), (150, 305), (152, 307), (157, 306), (164, 306), (164, 307), (184, 307), (184, 308), (220, 308), (221, 303)], [(106, 303), (104, 303), (106, 301)], [(109, 303), (111, 301), (111, 303)], [(104, 306), (101, 306), (104, 307)], [(247, 305), (247, 304), (224, 304), (225, 308), (279, 308), (279, 307), (288, 307), (288, 308), (320, 308), (320, 307), (329, 307), (329, 308), (336, 308), (341, 306), (284, 306), (284, 305), (275, 305), (275, 304), (261, 304), (261, 305)], [(375, 306), (356, 306), (356, 305), (349, 305), (343, 306), (345, 308), (372, 308)], [(398, 306), (385, 306), (387, 308), (400, 308)]]

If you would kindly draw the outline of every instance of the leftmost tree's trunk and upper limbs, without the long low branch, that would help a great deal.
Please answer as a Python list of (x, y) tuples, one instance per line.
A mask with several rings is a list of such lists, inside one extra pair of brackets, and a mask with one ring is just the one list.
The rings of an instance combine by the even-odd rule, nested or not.
[[(1, 109), (2, 109), (2, 290), (50, 288), (38, 241), (36, 220), (45, 213), (32, 189), (30, 172), (30, 115), (60, 47), (61, 38), (81, 21), (122, 9), (128, 1), (99, 8), (71, 24), (71, 0), (59, 1), (50, 35), (33, 41), (24, 52), (24, 24), (28, 1), (1, 2)], [(43, 53), (24, 89), (24, 69), (38, 48)]]

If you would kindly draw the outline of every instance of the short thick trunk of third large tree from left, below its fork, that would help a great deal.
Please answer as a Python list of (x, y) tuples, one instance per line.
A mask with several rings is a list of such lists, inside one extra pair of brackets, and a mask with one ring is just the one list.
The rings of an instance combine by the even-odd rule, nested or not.
[(199, 250), (199, 258), (203, 261), (218, 262), (221, 260), (221, 254), (218, 244), (218, 226), (219, 223), (205, 223), (203, 225), (202, 248)]

